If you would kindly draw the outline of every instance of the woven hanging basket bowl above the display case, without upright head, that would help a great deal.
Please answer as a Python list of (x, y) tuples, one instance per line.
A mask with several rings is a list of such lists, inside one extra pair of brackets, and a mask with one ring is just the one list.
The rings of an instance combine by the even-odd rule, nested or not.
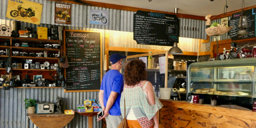
[(231, 28), (233, 28), (233, 26), (231, 26), (231, 27), (223, 27), (223, 26), (211, 27), (211, 28), (205, 29), (205, 32), (209, 36), (223, 35), (223, 34), (227, 33)]

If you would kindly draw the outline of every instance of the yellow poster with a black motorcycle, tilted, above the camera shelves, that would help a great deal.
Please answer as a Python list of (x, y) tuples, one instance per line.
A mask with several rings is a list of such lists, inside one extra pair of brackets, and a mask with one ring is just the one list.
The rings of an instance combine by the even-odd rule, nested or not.
[(28, 0), (9, 0), (6, 17), (28, 23), (40, 24), (43, 4)]

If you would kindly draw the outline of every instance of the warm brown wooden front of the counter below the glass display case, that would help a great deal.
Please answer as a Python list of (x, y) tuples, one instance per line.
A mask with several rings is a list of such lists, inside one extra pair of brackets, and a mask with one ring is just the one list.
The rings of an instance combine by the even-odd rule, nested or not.
[(256, 112), (160, 100), (160, 128), (256, 128)]

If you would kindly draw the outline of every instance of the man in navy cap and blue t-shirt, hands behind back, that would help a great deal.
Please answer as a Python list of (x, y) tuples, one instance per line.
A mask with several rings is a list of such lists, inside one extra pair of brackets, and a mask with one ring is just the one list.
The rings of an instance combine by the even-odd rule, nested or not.
[(111, 70), (104, 75), (100, 86), (99, 100), (104, 115), (98, 118), (98, 121), (105, 117), (107, 128), (117, 128), (123, 120), (120, 98), (124, 89), (124, 77), (119, 71), (123, 68), (124, 58), (126, 55), (122, 56), (118, 53), (110, 56)]

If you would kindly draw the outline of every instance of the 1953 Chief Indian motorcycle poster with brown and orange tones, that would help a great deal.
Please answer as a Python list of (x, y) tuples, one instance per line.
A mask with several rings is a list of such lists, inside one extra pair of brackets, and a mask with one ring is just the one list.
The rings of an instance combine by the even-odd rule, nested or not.
[(55, 3), (55, 23), (71, 24), (71, 4)]

